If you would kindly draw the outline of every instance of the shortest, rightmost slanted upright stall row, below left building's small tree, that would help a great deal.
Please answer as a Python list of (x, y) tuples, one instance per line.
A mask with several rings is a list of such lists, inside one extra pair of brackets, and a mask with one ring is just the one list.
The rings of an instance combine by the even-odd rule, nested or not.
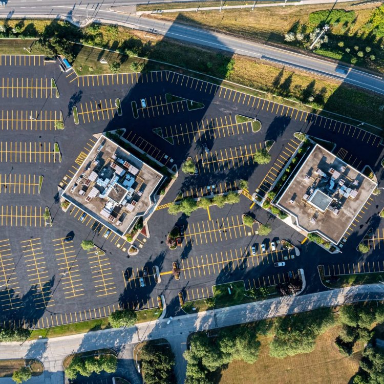
[(96, 297), (117, 293), (110, 259), (105, 255), (105, 252), (103, 255), (99, 252), (100, 251), (88, 252)]

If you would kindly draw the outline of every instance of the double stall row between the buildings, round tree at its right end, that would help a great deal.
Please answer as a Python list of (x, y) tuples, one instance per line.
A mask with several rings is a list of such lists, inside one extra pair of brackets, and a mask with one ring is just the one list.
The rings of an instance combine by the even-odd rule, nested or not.
[(255, 143), (196, 155), (199, 174), (253, 165), (253, 155), (262, 148), (262, 143)]

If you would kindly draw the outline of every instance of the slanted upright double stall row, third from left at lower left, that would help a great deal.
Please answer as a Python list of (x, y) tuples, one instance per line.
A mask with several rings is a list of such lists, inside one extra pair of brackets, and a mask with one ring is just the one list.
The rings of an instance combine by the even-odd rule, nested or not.
[(59, 283), (62, 285), (65, 298), (84, 295), (77, 254), (70, 238), (54, 239), (54, 251), (59, 270)]

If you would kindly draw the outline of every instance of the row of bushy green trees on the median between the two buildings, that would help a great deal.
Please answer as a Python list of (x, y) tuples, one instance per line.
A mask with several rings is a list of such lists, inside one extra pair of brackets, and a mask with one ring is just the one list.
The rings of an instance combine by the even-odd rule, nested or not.
[(213, 199), (202, 197), (199, 201), (195, 201), (192, 198), (186, 198), (181, 200), (179, 204), (172, 203), (168, 212), (171, 215), (177, 215), (180, 212), (189, 216), (193, 211), (198, 208), (207, 208), (209, 205), (217, 205), (222, 208), (225, 204), (234, 204), (240, 201), (240, 195), (236, 192), (230, 191), (227, 195), (216, 195)]

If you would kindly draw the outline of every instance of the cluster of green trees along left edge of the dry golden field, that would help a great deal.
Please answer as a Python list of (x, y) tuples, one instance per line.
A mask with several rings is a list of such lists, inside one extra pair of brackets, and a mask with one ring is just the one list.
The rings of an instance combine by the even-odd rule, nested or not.
[(257, 333), (262, 333), (265, 325), (265, 322), (260, 322), (257, 330), (246, 327), (222, 329), (215, 337), (207, 337), (202, 333), (192, 336), (190, 349), (184, 352), (187, 360), (185, 383), (214, 382), (215, 372), (233, 360), (253, 364), (260, 350)]

